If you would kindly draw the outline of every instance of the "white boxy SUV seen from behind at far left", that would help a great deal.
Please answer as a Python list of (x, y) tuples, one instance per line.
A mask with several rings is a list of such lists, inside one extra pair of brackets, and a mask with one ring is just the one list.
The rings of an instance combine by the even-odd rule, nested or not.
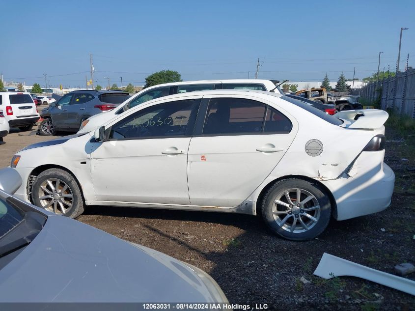
[(29, 131), (39, 119), (36, 105), (28, 92), (0, 92), (0, 108), (10, 127)]

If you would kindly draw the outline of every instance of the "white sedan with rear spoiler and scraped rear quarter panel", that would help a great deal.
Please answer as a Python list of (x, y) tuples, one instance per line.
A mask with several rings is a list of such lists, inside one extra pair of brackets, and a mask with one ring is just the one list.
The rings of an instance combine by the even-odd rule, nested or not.
[(86, 134), (36, 143), (11, 161), (16, 195), (72, 218), (87, 205), (261, 214), (314, 238), (331, 217), (387, 208), (387, 113), (328, 115), (285, 95), (210, 90), (148, 101)]

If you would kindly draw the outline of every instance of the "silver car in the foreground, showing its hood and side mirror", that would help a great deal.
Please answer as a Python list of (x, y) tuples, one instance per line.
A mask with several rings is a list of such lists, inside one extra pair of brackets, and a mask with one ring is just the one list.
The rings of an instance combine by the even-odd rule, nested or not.
[(228, 303), (188, 263), (12, 197), (21, 182), (0, 170), (0, 303)]

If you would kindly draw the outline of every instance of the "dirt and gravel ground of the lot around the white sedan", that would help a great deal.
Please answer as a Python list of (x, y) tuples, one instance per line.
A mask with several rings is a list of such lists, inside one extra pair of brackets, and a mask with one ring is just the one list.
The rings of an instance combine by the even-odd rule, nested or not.
[[(21, 142), (10, 140), (17, 135), (0, 146), (0, 167), (21, 148)], [(326, 281), (312, 275), (325, 252), (388, 273), (398, 263), (415, 263), (415, 138), (402, 140), (387, 130), (387, 139), (385, 161), (396, 174), (391, 206), (375, 215), (332, 220), (311, 241), (284, 240), (271, 234), (260, 217), (246, 215), (97, 206), (78, 220), (190, 262), (208, 272), (233, 304), (266, 303), (275, 310), (415, 310), (415, 297), (409, 294), (358, 278)], [(302, 277), (310, 282), (304, 284)], [(407, 278), (415, 280), (415, 273)]]

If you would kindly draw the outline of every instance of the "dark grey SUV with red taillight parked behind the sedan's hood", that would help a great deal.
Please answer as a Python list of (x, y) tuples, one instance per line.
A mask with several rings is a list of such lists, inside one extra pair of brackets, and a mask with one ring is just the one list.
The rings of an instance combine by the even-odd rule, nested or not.
[(116, 108), (130, 98), (127, 92), (107, 90), (77, 90), (63, 95), (57, 102), (41, 111), (44, 119), (39, 133), (51, 136), (55, 131), (77, 132), (91, 115)]

